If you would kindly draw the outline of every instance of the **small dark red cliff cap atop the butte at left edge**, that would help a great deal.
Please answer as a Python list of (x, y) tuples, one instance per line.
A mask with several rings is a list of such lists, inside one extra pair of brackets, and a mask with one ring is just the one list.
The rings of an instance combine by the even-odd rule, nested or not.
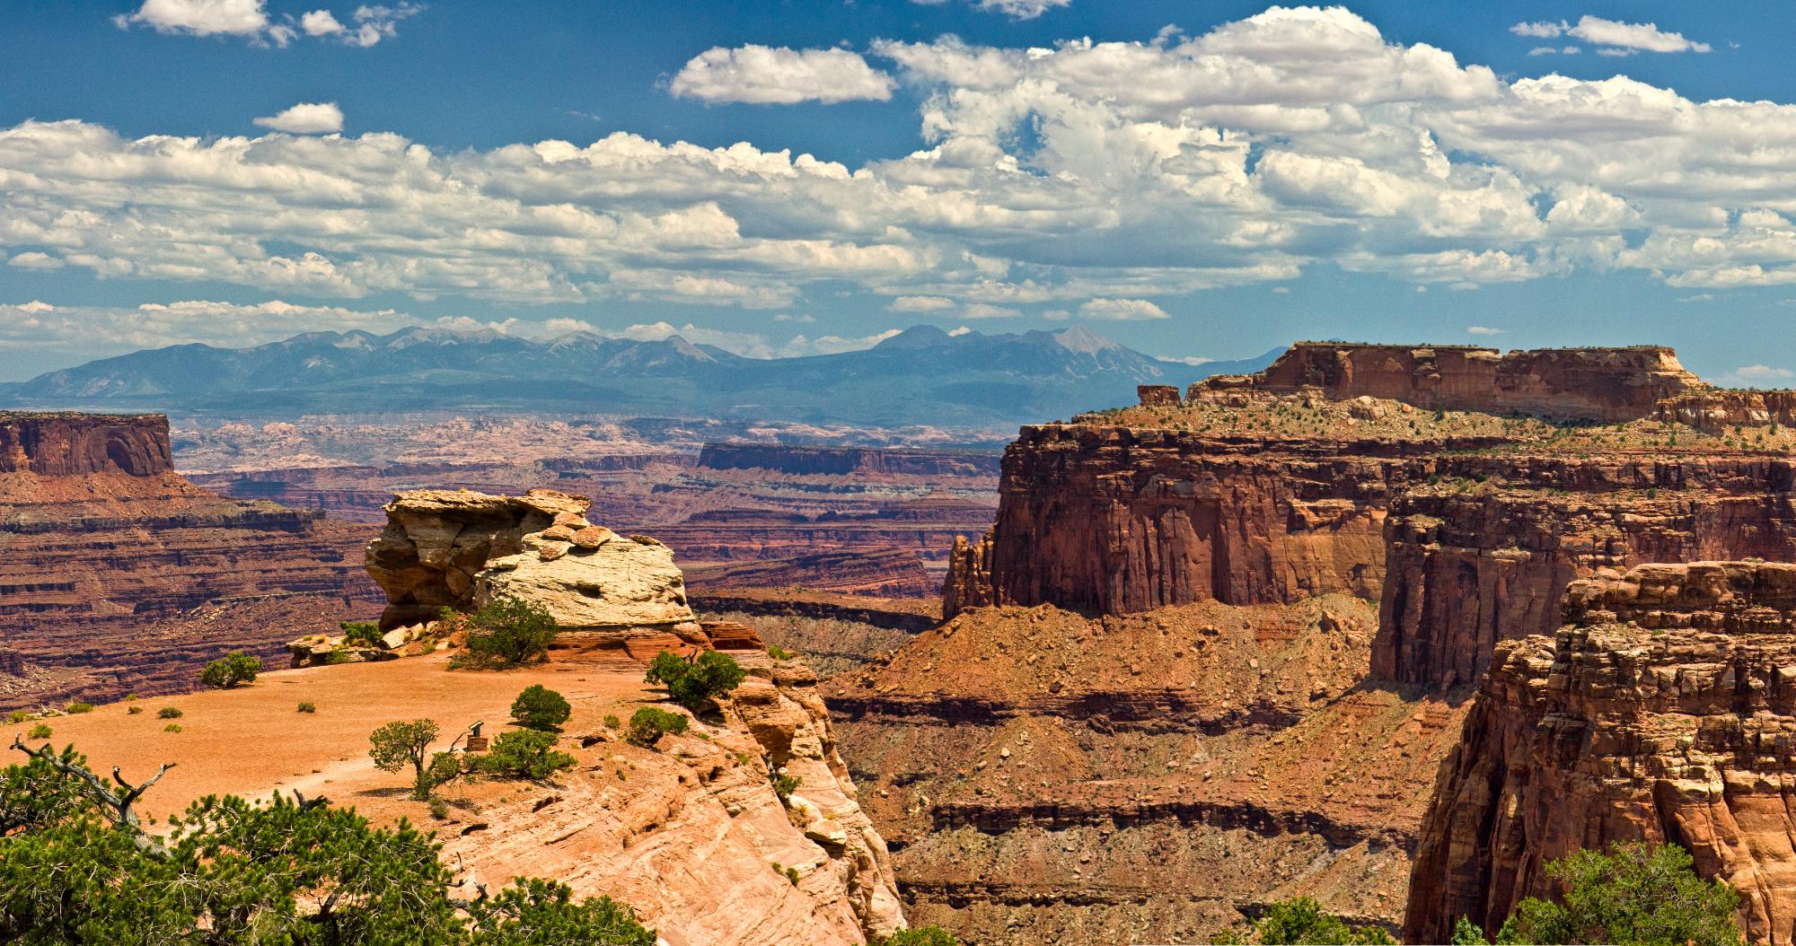
[(163, 415), (0, 411), (0, 474), (147, 477), (172, 470)]

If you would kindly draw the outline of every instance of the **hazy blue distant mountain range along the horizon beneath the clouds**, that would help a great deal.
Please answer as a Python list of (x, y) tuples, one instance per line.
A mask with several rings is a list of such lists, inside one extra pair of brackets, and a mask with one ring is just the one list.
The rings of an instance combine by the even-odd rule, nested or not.
[(268, 416), (424, 409), (578, 411), (898, 427), (1065, 418), (1131, 404), (1137, 384), (1257, 372), (1279, 352), (1160, 361), (1083, 325), (948, 334), (918, 325), (873, 348), (751, 359), (679, 336), (401, 328), (307, 332), (255, 348), (174, 345), (0, 386), (0, 406)]

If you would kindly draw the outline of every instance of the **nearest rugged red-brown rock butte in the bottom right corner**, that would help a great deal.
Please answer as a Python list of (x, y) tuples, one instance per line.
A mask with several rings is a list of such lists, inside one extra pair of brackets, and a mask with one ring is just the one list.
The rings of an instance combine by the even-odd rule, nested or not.
[(1611, 840), (1690, 849), (1740, 890), (1748, 939), (1796, 941), (1796, 565), (1638, 565), (1575, 582), (1552, 637), (1503, 643), (1440, 766), (1404, 939), (1494, 930), (1546, 860)]

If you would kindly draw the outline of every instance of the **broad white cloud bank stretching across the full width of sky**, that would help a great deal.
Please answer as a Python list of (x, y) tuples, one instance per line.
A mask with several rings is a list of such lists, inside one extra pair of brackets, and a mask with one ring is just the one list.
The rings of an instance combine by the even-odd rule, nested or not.
[(1451, 287), (1796, 284), (1796, 108), (1622, 75), (1507, 81), (1342, 7), (1191, 38), (700, 59), (672, 92), (823, 101), (830, 68), (864, 68), (862, 92), (884, 79), (920, 102), (923, 144), (848, 167), (630, 133), (449, 153), (22, 122), (0, 129), (0, 250), (314, 298), (803, 311), (828, 284), (966, 318), (1157, 318), (1169, 296), (1318, 266)]

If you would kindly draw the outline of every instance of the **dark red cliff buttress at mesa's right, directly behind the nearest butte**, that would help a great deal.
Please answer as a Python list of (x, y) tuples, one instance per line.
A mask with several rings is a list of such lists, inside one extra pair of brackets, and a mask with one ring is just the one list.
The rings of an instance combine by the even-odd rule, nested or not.
[(1392, 497), (1372, 673), (1473, 684), (1602, 567), (1796, 558), (1787, 460), (1442, 456)]

